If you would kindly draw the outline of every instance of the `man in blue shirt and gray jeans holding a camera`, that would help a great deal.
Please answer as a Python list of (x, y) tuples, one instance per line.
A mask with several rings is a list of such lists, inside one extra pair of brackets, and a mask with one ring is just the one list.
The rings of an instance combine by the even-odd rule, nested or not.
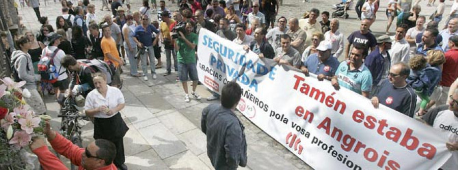
[[(141, 17), (141, 25), (135, 28), (134, 41), (137, 43), (138, 50), (141, 51), (144, 47), (148, 49), (148, 53), (141, 55), (141, 70), (143, 71), (143, 80), (148, 81), (147, 57), (150, 59), (151, 77), (157, 78), (156, 75), (156, 61), (154, 57), (153, 36), (152, 32), (159, 33), (159, 30), (154, 27), (148, 15)], [(157, 43), (157, 41), (155, 41)]]

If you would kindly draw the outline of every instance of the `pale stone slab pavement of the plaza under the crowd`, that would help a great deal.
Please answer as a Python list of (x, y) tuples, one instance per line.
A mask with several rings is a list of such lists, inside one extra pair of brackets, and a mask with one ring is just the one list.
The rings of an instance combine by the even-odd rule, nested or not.
[[(47, 7), (43, 1), (40, 6), (42, 16), (48, 16), (49, 23), (55, 26), (55, 18), (60, 15), (61, 6), (58, 3), (47, 1)], [(133, 1), (132, 10), (139, 9), (141, 2)], [(376, 34), (384, 33), (386, 27), (385, 8), (388, 0), (382, 0), (378, 12), (378, 19), (371, 27)], [(101, 1), (91, 1), (96, 5), (97, 18), (110, 14), (108, 11), (100, 11)], [(339, 1), (316, 1), (302, 3), (301, 0), (284, 0), (280, 7), (279, 16), (301, 17), (303, 12), (311, 8), (332, 13), (332, 5)], [(426, 7), (426, 1), (422, 1), (422, 15), (430, 15), (435, 7)], [(176, 4), (166, 2), (167, 8), (176, 10)], [(445, 14), (450, 10), (451, 2), (446, 2)], [(350, 32), (359, 30), (360, 21), (355, 20), (356, 13), (350, 11), (349, 19), (340, 19), (340, 31), (348, 36)], [(155, 15), (155, 14), (154, 14)], [(34, 31), (38, 31), (40, 24), (37, 21), (32, 8), (19, 7), (19, 16), (22, 23)], [(155, 17), (153, 17), (155, 18)], [(320, 19), (319, 19), (320, 20)], [(445, 19), (444, 19), (445, 20)], [(442, 22), (443, 23), (443, 22)], [(441, 25), (442, 25), (441, 23)], [(395, 26), (391, 27), (391, 32)], [(162, 56), (165, 56), (162, 53)], [(165, 57), (162, 57), (165, 63)], [(128, 67), (125, 67), (128, 71)], [(130, 130), (124, 138), (126, 165), (130, 169), (213, 169), (206, 154), (206, 137), (200, 129), (201, 111), (210, 103), (205, 100), (210, 93), (204, 86), (198, 86), (197, 93), (204, 98), (200, 101), (192, 99), (190, 103), (184, 102), (184, 94), (181, 83), (175, 82), (175, 75), (162, 76), (164, 69), (158, 69), (158, 79), (143, 81), (122, 75), (126, 98), (126, 107), (122, 116)], [(45, 97), (48, 113), (56, 117), (59, 107), (52, 96)], [(282, 145), (274, 141), (269, 135), (251, 124), (246, 118), (237, 113), (245, 125), (245, 133), (248, 143), (248, 165), (240, 169), (312, 169), (302, 160), (298, 159)], [(87, 146), (93, 140), (93, 125), (84, 122), (83, 146)], [(60, 119), (52, 119), (53, 129), (58, 129)], [(65, 158), (63, 158), (65, 159)], [(68, 164), (68, 161), (67, 161)]]

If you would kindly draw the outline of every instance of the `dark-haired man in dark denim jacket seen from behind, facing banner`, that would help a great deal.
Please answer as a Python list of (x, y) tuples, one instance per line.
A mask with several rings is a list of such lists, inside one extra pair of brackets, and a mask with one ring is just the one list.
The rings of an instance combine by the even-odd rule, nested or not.
[(211, 104), (202, 111), (202, 131), (207, 134), (207, 155), (215, 169), (246, 166), (245, 127), (234, 113), (242, 96), (235, 82), (221, 90), (221, 105)]

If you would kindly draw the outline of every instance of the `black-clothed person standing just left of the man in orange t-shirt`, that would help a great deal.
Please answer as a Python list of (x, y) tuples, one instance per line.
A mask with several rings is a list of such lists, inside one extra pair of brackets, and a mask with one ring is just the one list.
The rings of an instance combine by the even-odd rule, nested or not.
[(99, 25), (97, 23), (92, 23), (89, 25), (89, 41), (91, 42), (90, 48), (90, 58), (96, 58), (103, 60), (103, 51), (102, 47), (100, 46), (100, 42), (102, 42), (102, 33), (99, 31)]

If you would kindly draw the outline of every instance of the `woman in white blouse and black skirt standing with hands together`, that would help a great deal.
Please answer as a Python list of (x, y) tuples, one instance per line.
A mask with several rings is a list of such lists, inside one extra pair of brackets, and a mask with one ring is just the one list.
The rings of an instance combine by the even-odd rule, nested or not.
[(129, 127), (121, 118), (125, 106), (121, 90), (106, 84), (106, 75), (95, 73), (93, 82), (96, 89), (86, 97), (84, 112), (94, 117), (94, 139), (105, 139), (116, 146), (116, 157), (113, 163), (121, 168), (125, 162), (123, 138)]

